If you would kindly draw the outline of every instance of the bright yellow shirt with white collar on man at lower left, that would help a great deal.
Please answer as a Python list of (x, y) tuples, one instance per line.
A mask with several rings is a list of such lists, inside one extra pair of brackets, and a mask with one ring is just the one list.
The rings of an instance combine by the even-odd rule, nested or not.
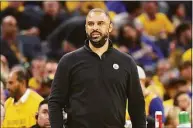
[(7, 99), (2, 128), (29, 128), (35, 125), (35, 114), (42, 100), (43, 98), (31, 89), (27, 89), (16, 103), (13, 98)]

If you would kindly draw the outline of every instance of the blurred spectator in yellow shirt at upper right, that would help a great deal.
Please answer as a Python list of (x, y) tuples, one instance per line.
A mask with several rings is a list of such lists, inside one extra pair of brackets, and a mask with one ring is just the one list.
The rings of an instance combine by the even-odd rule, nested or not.
[[(136, 22), (140, 23), (140, 31), (150, 36), (153, 40), (167, 38), (168, 34), (174, 32), (174, 27), (167, 16), (158, 13), (157, 2), (144, 2), (144, 13), (137, 17)], [(159, 25), (158, 25), (159, 24)]]

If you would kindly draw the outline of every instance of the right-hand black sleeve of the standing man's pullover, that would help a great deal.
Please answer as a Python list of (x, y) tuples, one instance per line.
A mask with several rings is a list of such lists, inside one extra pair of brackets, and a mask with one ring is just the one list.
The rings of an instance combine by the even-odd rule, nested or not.
[(128, 112), (132, 128), (146, 128), (145, 101), (142, 93), (137, 66), (131, 59), (128, 78)]

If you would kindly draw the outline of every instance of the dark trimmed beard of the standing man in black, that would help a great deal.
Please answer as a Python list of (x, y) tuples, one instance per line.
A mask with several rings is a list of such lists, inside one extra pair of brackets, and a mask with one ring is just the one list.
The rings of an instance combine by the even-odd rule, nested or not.
[[(92, 32), (93, 33), (93, 32)], [(92, 33), (89, 35), (88, 33), (87, 33), (87, 38), (89, 39), (89, 41), (91, 42), (91, 44), (95, 47), (95, 48), (101, 48), (101, 47), (103, 47), (104, 45), (105, 45), (105, 43), (106, 43), (106, 41), (107, 41), (107, 39), (108, 39), (108, 34), (105, 34), (105, 35), (103, 35), (100, 39), (98, 39), (98, 38), (94, 38), (94, 37), (92, 37)], [(101, 36), (102, 34), (100, 33), (100, 36)]]

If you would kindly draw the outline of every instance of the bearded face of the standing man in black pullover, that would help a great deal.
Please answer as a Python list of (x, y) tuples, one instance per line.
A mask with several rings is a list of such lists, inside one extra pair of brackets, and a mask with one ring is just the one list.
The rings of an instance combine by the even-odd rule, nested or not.
[[(103, 12), (90, 12), (86, 18), (86, 33), (93, 44), (104, 43), (112, 31), (109, 17)], [(106, 40), (105, 40), (106, 42)], [(101, 44), (104, 45), (104, 44)]]

